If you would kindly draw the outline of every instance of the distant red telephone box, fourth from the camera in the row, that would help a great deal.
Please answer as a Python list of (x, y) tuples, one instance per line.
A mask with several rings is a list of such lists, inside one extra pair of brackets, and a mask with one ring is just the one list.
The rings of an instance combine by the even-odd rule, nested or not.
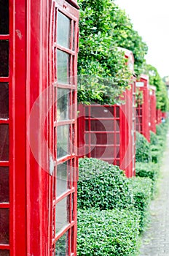
[(149, 86), (149, 122), (150, 122), (150, 130), (156, 133), (156, 87)]

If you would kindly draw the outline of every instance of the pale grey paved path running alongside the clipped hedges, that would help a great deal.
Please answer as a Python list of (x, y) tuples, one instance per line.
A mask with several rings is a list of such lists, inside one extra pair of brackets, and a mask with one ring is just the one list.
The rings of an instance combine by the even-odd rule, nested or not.
[(151, 222), (144, 233), (140, 256), (169, 256), (169, 133), (164, 153), (159, 193), (150, 206)]

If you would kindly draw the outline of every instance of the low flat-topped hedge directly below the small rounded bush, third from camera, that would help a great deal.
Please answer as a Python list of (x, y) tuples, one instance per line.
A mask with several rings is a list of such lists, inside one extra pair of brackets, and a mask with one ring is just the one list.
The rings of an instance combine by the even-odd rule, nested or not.
[(136, 162), (135, 164), (135, 176), (151, 178), (152, 180), (152, 196), (156, 192), (157, 178), (159, 176), (160, 166), (154, 162)]

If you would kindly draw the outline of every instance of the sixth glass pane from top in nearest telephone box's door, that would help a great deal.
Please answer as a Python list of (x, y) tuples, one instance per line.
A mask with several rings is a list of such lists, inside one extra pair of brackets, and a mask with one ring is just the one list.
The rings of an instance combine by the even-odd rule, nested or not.
[(62, 230), (69, 223), (69, 196), (63, 198), (56, 205), (56, 233)]

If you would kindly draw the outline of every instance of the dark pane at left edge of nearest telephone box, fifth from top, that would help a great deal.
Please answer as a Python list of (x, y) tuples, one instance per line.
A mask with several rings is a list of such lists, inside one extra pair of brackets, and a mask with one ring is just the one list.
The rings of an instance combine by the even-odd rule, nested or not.
[(0, 203), (9, 202), (9, 167), (0, 167)]

